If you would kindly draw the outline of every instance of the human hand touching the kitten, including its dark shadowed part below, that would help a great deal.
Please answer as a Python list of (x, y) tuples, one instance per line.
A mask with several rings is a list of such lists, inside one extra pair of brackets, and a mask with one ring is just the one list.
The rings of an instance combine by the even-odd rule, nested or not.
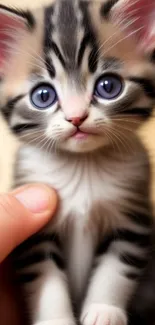
[(56, 205), (56, 193), (45, 185), (0, 194), (0, 324), (23, 325), (6, 258), (50, 220)]

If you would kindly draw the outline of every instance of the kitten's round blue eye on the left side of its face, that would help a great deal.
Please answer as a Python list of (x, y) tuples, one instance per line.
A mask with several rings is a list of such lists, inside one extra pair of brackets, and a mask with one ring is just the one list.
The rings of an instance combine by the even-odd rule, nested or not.
[(38, 109), (46, 109), (58, 100), (55, 89), (47, 84), (42, 84), (31, 93), (31, 102)]

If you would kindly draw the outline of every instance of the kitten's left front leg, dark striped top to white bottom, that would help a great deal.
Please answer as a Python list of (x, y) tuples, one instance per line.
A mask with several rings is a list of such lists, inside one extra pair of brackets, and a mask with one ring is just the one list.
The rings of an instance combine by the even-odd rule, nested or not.
[(40, 233), (13, 255), (31, 325), (75, 325), (65, 262), (56, 234)]

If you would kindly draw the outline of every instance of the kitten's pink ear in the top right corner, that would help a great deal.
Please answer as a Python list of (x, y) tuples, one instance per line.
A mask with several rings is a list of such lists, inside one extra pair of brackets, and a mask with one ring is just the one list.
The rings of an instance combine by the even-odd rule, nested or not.
[(135, 36), (143, 50), (155, 48), (155, 0), (119, 0), (113, 6), (112, 19)]

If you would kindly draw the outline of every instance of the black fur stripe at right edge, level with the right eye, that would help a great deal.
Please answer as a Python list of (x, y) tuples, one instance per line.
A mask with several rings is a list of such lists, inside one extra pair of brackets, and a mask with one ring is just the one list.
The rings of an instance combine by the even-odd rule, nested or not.
[(130, 77), (128, 79), (140, 85), (148, 97), (155, 98), (155, 85), (151, 80), (141, 77)]

